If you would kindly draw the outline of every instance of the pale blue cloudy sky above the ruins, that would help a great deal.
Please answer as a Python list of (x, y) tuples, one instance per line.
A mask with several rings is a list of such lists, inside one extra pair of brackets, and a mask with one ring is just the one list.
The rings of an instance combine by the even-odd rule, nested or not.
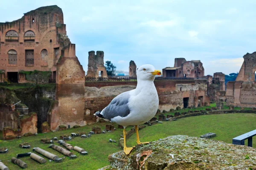
[(0, 22), (58, 5), (87, 71), (88, 51), (104, 51), (117, 70), (173, 67), (176, 57), (203, 62), (205, 75), (239, 72), (256, 51), (255, 0), (1, 0)]

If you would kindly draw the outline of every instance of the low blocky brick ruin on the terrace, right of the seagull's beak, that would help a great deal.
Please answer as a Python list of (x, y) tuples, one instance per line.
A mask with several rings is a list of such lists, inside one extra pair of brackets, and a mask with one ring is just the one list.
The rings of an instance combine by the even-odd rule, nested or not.
[(175, 58), (174, 67), (163, 68), (163, 77), (204, 77), (204, 67), (200, 60), (186, 61), (185, 58)]

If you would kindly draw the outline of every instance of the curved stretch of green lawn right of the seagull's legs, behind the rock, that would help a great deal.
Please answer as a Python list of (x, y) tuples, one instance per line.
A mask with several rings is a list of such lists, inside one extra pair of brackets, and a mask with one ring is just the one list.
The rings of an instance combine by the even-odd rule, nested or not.
[[(205, 133), (216, 133), (214, 140), (232, 143), (232, 139), (241, 134), (256, 129), (256, 114), (254, 113), (230, 113), (193, 116), (178, 119), (177, 121), (164, 122), (154, 125), (148, 130), (145, 128), (140, 132), (141, 142), (155, 141), (172, 135), (201, 136)], [(136, 141), (133, 135), (128, 140), (128, 145)], [(254, 139), (255, 141), (255, 139)], [(256, 147), (256, 142), (253, 142)]]

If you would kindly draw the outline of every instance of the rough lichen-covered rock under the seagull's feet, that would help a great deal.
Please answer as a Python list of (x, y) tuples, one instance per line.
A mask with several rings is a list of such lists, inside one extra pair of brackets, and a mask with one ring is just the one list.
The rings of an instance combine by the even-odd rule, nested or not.
[(241, 170), (256, 168), (256, 149), (190, 136), (169, 136), (108, 156), (100, 170)]

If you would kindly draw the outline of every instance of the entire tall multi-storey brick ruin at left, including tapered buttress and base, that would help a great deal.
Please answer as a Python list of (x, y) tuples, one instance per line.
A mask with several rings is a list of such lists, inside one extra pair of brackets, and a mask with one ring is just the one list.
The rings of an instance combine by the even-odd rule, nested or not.
[[(76, 45), (67, 37), (63, 18), (61, 8), (45, 6), (19, 20), (0, 23), (0, 82), (55, 83), (50, 88), (15, 91), (13, 100), (3, 96), (14, 91), (2, 88), (0, 110), (8, 112), (0, 112), (0, 130), (9, 125), (22, 128), (22, 134), (36, 133), (35, 129), (40, 132), (46, 121), (51, 130), (58, 125), (86, 125), (85, 73), (76, 57)], [(29, 112), (37, 116), (29, 117)], [(17, 125), (21, 120), (23, 124)]]

